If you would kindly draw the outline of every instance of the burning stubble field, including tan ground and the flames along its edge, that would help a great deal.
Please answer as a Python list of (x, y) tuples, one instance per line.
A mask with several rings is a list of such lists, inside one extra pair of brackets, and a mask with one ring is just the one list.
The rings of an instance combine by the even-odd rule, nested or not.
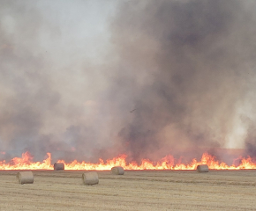
[[(255, 210), (256, 164), (250, 156), (232, 165), (207, 153), (189, 164), (174, 156), (139, 164), (126, 157), (98, 163), (58, 160), (64, 164), (59, 171), (50, 153), (42, 162), (28, 152), (1, 161), (0, 210)], [(209, 171), (196, 171), (200, 164)], [(124, 169), (113, 173), (114, 166)], [(84, 181), (88, 172), (96, 181)]]

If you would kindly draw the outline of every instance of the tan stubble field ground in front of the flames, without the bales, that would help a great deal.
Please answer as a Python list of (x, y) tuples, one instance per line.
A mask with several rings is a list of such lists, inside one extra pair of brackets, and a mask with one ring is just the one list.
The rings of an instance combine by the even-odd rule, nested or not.
[(34, 171), (20, 185), (18, 171), (0, 171), (0, 210), (256, 210), (256, 171)]

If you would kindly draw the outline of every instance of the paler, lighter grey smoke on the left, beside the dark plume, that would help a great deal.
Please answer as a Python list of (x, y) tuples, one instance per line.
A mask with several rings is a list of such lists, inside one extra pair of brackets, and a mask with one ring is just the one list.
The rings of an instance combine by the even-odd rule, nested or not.
[(99, 68), (105, 53), (97, 47), (107, 44), (106, 35), (98, 35), (101, 24), (87, 31), (104, 20), (90, 19), (96, 15), (90, 10), (83, 1), (1, 1), (0, 143), (6, 156), (29, 150), (39, 160), (47, 152), (54, 159), (89, 159), (104, 146), (97, 100), (107, 85)]

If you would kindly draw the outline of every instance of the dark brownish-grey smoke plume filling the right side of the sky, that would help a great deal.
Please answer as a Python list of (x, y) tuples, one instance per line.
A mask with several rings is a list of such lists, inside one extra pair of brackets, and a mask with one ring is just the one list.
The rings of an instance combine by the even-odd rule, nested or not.
[(127, 113), (120, 113), (118, 135), (134, 159), (225, 147), (255, 77), (255, 6), (200, 0), (119, 6), (111, 25), (119, 66), (109, 96)]

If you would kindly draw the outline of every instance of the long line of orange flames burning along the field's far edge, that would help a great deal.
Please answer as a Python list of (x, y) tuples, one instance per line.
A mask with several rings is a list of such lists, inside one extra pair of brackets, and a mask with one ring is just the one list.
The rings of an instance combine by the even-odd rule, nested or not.
[[(29, 152), (23, 153), (21, 157), (14, 157), (11, 162), (6, 163), (0, 161), (0, 170), (53, 170), (53, 164), (51, 164), (51, 154), (47, 153), (47, 158), (42, 162), (33, 162), (33, 156)], [(215, 156), (211, 156), (204, 153), (200, 161), (193, 159), (190, 164), (182, 164), (180, 161), (176, 161), (173, 156), (165, 156), (161, 161), (154, 163), (147, 159), (142, 159), (141, 164), (132, 162), (127, 164), (126, 155), (114, 157), (113, 159), (106, 160), (104, 162), (99, 159), (98, 164), (91, 164), (86, 162), (79, 163), (77, 160), (72, 163), (65, 163), (64, 160), (59, 160), (65, 165), (65, 170), (109, 170), (113, 166), (122, 166), (125, 170), (195, 170), (198, 164), (207, 164), (209, 169), (215, 170), (240, 170), (240, 169), (256, 169), (256, 163), (253, 163), (252, 158), (248, 156), (239, 157), (239, 165), (228, 165), (223, 162), (219, 162), (215, 159)]]

